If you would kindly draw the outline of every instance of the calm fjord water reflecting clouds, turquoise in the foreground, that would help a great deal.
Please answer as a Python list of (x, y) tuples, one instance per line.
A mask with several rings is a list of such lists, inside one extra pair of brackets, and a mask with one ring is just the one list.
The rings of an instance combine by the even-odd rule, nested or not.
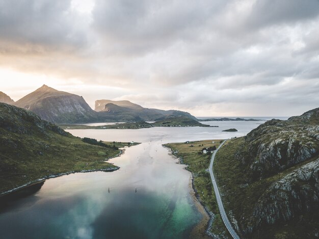
[[(37, 193), (0, 211), (0, 237), (188, 238), (203, 216), (191, 173), (162, 144), (243, 136), (262, 122), (204, 123), (219, 127), (69, 130), (79, 137), (142, 144), (109, 161), (117, 171), (46, 180)], [(222, 132), (228, 128), (238, 132)]]

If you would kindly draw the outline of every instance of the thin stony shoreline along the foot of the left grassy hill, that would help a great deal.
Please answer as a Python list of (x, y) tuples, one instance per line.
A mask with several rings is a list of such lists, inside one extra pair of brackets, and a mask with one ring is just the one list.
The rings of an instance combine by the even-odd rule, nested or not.
[[(116, 154), (113, 157), (107, 158), (107, 160), (103, 160), (103, 162), (108, 162), (111, 158), (119, 157), (125, 151), (124, 148), (119, 149), (119, 150), (120, 150), (120, 152), (118, 154)], [(51, 175), (48, 175), (48, 176), (45, 176), (45, 177), (30, 181), (28, 183), (25, 183), (25, 184), (23, 184), (23, 185), (21, 185), (19, 187), (16, 187), (16, 188), (10, 189), (8, 191), (2, 192), (2, 193), (0, 193), (0, 198), (3, 197), (3, 196), (7, 196), (7, 195), (9, 195), (11, 193), (18, 192), (19, 190), (28, 188), (28, 187), (30, 187), (30, 186), (32, 186), (34, 184), (40, 183), (40, 182), (45, 181), (46, 179), (50, 179), (50, 178), (56, 178), (56, 177), (60, 177), (60, 176), (64, 176), (64, 175), (69, 175), (69, 174), (72, 174), (72, 173), (114, 172), (114, 171), (119, 170), (119, 169), (120, 169), (120, 167), (114, 166), (113, 168), (89, 169), (89, 170), (81, 170), (81, 171), (75, 171), (74, 170), (74, 171), (68, 171), (68, 172), (65, 172), (65, 173), (51, 174)]]

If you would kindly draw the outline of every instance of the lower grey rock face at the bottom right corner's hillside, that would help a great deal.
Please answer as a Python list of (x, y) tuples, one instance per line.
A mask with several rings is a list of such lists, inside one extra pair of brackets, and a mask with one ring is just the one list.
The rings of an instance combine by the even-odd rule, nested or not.
[[(303, 214), (314, 215), (319, 209), (319, 158), (287, 174), (275, 182), (254, 206), (251, 223), (263, 224), (288, 221)], [(247, 231), (251, 232), (251, 231)]]

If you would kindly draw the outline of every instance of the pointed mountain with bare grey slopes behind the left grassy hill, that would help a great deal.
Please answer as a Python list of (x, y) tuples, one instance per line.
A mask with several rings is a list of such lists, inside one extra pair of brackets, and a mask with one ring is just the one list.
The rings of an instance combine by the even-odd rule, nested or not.
[(14, 103), (53, 123), (96, 122), (98, 116), (82, 96), (43, 85)]

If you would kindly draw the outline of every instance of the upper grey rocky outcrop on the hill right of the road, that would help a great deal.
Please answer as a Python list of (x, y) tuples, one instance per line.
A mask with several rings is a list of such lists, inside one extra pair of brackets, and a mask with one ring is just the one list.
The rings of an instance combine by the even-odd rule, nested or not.
[(255, 177), (269, 176), (318, 155), (318, 139), (319, 125), (271, 120), (247, 135), (247, 150), (236, 157)]

